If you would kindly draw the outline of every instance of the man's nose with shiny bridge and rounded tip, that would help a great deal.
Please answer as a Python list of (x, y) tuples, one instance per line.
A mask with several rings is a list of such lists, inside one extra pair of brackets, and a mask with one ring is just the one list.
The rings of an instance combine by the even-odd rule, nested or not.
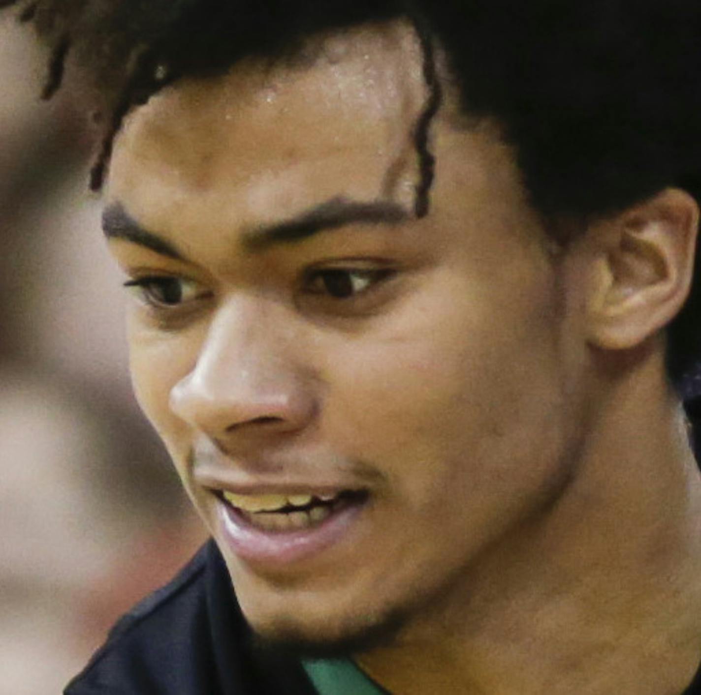
[(170, 392), (172, 412), (225, 447), (304, 429), (315, 401), (289, 323), (264, 301), (220, 307), (192, 371)]

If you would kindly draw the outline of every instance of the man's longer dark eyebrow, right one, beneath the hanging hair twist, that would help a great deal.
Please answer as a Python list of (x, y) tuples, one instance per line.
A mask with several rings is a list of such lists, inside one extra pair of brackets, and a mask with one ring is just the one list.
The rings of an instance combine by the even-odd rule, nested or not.
[(293, 219), (247, 233), (243, 242), (250, 251), (263, 251), (273, 245), (298, 242), (349, 224), (395, 225), (409, 219), (413, 219), (413, 216), (395, 202), (357, 202), (333, 198)]

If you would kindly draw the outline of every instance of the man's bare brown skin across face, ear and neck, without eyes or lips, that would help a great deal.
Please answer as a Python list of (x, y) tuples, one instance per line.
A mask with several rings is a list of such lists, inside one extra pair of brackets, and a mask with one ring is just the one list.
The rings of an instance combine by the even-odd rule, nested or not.
[[(221, 544), (260, 633), (336, 640), (400, 609), (395, 645), (358, 656), (397, 694), (680, 692), (701, 659), (701, 499), (661, 331), (688, 293), (694, 200), (663, 191), (558, 255), (496, 125), (449, 98), (426, 219), (246, 245), (333, 198), (410, 212), (425, 98), (391, 25), (130, 116), (109, 202), (187, 260), (111, 252), (189, 281), (177, 308), (132, 303), (139, 401), (215, 537), (208, 475), (369, 488), (352, 535), (287, 570)], [(397, 272), (367, 282), (378, 267)], [(309, 268), (360, 270), (358, 294)]]

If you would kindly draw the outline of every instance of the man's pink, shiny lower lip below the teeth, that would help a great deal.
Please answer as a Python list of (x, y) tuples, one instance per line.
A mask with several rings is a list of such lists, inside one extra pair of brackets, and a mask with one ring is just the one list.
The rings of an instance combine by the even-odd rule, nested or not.
[(224, 540), (242, 560), (266, 565), (289, 565), (308, 560), (346, 539), (366, 503), (357, 502), (344, 507), (318, 526), (304, 530), (262, 530), (221, 501), (219, 519)]

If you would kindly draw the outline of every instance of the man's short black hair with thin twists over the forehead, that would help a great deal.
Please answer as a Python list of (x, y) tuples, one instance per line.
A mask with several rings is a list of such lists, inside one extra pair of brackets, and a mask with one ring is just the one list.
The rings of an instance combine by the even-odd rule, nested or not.
[[(581, 228), (668, 186), (701, 202), (699, 0), (0, 0), (9, 5), (52, 50), (45, 97), (70, 53), (100, 85), (95, 186), (125, 114), (164, 85), (294, 55), (312, 34), (408, 18), (444, 51), (465, 112), (500, 125), (549, 228)], [(430, 185), (417, 135), (421, 146)], [(701, 362), (700, 309), (697, 255), (667, 329), (682, 395)]]

